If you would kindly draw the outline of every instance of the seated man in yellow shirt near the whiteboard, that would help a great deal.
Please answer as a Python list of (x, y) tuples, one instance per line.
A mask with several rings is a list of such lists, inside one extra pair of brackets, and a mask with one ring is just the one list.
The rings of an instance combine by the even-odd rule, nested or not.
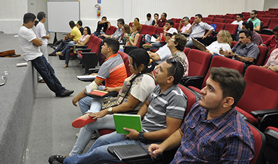
[[(62, 40), (60, 40), (60, 44), (58, 45), (57, 49), (55, 49), (55, 51), (53, 51), (51, 54), (49, 54), (49, 56), (55, 56), (55, 55), (60, 55), (63, 56), (62, 54), (58, 53), (56, 54), (58, 51), (60, 51), (64, 46), (67, 46), (66, 44), (66, 39), (68, 38), (69, 40), (74, 40), (74, 41), (78, 41), (81, 38), (81, 32), (79, 31), (79, 28), (76, 27), (76, 25), (74, 24), (74, 21), (70, 21), (70, 28), (72, 28), (72, 31), (70, 31), (70, 33), (67, 33), (67, 35), (65, 35), (63, 37)], [(68, 49), (70, 49), (70, 47), (67, 47)]]

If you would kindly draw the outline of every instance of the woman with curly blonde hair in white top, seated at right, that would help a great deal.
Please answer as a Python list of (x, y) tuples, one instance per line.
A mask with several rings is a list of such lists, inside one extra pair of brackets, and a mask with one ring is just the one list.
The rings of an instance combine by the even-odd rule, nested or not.
[(215, 42), (212, 42), (209, 46), (207, 46), (206, 49), (204, 49), (204, 51), (211, 53), (212, 55), (220, 55), (220, 49), (222, 49), (223, 51), (231, 49), (231, 42), (233, 42), (233, 39), (231, 38), (231, 33), (229, 33), (229, 31), (226, 30), (220, 30), (217, 35), (217, 40)]

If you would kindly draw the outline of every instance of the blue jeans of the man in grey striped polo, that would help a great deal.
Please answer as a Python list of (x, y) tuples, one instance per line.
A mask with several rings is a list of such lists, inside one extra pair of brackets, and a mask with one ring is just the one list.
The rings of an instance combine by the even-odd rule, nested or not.
[(86, 154), (68, 156), (63, 163), (121, 163), (107, 151), (107, 147), (115, 145), (145, 145), (145, 143), (129, 140), (124, 135), (113, 132), (98, 138)]

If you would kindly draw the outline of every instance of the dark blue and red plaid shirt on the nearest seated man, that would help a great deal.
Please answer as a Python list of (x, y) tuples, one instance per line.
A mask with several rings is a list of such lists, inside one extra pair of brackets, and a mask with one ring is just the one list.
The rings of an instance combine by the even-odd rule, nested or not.
[(206, 120), (208, 110), (194, 104), (181, 131), (181, 146), (172, 163), (249, 163), (254, 137), (235, 108)]

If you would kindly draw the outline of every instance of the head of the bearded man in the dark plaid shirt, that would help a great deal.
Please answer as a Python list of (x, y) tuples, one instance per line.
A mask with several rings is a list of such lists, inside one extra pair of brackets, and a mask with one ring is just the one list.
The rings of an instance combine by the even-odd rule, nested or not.
[(206, 86), (201, 90), (202, 98), (199, 106), (207, 110), (220, 108), (230, 110), (238, 104), (245, 87), (246, 81), (237, 70), (211, 67)]

